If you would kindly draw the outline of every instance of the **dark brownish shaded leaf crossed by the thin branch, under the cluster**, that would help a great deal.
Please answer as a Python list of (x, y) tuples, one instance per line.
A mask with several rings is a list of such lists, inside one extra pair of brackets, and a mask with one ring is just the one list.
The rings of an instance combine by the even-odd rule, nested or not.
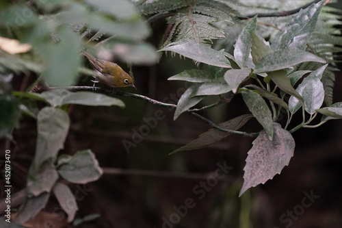
[[(224, 123), (220, 123), (219, 126), (223, 127), (224, 129), (237, 130), (240, 127), (244, 126), (252, 117), (253, 116), (251, 114), (244, 114), (242, 116), (237, 116)], [(231, 133), (223, 132), (218, 129), (210, 129), (209, 131), (200, 134), (200, 136), (198, 136), (196, 140), (189, 142), (185, 146), (172, 151), (171, 153), (169, 153), (169, 155), (180, 151), (190, 151), (200, 149), (202, 147), (207, 147), (210, 144), (218, 142), (229, 135), (231, 135)]]

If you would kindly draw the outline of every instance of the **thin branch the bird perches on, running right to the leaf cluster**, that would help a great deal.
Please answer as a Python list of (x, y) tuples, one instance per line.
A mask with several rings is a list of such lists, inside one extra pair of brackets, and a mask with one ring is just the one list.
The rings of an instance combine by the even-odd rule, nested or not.
[[(99, 87), (92, 87), (92, 86), (66, 86), (66, 87), (50, 87), (51, 90), (55, 90), (55, 89), (67, 89), (67, 90), (97, 90), (97, 91), (104, 91), (104, 92), (108, 92), (110, 94), (117, 94), (120, 95), (122, 97), (133, 97), (133, 98), (137, 98), (137, 99), (142, 99), (144, 101), (148, 101), (149, 103), (153, 103), (153, 105), (158, 105), (161, 107), (172, 107), (172, 108), (176, 108), (177, 105), (173, 104), (173, 103), (163, 103), (161, 101), (157, 101), (155, 99), (151, 99), (149, 97), (146, 97), (144, 95), (140, 95), (140, 94), (135, 94), (135, 93), (131, 93), (131, 92), (122, 92), (120, 90), (112, 90), (112, 89), (106, 89), (106, 88), (99, 88)], [(226, 101), (224, 99), (224, 101)], [(218, 105), (218, 103), (214, 103), (213, 105), (208, 105), (203, 107), (200, 110), (204, 110), (207, 109), (209, 107), (213, 107)], [(224, 132), (228, 132), (231, 134), (239, 134), (239, 135), (243, 135), (243, 136), (249, 136), (249, 137), (256, 137), (258, 133), (247, 133), (244, 131), (234, 131), (234, 130), (230, 130), (230, 129), (224, 129), (222, 127), (220, 127), (219, 125), (216, 125), (215, 123), (213, 123), (212, 121), (209, 121), (207, 118), (201, 116), (200, 114), (197, 114), (195, 112), (196, 110), (187, 110), (187, 112), (189, 112), (190, 114), (192, 114), (193, 116), (196, 116), (197, 118), (199, 118), (200, 120), (204, 121), (205, 123), (208, 123), (211, 127), (214, 127), (215, 129), (218, 129), (220, 131), (224, 131)]]

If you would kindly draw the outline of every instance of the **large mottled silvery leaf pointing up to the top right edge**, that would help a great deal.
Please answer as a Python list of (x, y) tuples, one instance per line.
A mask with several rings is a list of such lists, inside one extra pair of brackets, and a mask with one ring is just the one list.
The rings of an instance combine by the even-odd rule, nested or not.
[(305, 50), (306, 44), (315, 30), (323, 2), (320, 1), (319, 3), (312, 4), (304, 10), (300, 10), (296, 16), (293, 16), (290, 23), (276, 35), (272, 49), (278, 50), (295, 47)]

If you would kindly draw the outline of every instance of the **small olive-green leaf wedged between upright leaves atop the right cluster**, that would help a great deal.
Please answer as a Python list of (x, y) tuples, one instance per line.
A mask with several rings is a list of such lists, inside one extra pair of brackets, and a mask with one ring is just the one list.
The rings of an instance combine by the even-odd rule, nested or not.
[(269, 47), (269, 42), (266, 42), (261, 36), (250, 32), (252, 37), (252, 60), (254, 64), (258, 64), (266, 55), (272, 53), (271, 47)]

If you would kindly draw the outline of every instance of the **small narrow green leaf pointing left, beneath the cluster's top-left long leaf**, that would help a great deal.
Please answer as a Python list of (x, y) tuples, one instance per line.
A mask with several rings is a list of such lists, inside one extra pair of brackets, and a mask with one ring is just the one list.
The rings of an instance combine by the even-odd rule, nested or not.
[(210, 73), (198, 69), (185, 70), (179, 74), (169, 77), (168, 80), (180, 80), (190, 82), (205, 82), (213, 79)]

